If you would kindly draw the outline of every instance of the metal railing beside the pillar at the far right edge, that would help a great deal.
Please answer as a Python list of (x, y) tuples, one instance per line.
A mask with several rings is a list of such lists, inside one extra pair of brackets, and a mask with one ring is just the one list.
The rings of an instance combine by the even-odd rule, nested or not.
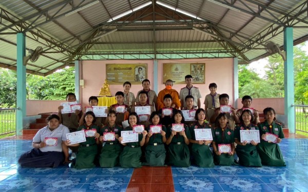
[(296, 131), (308, 133), (308, 105), (294, 105), (294, 108)]

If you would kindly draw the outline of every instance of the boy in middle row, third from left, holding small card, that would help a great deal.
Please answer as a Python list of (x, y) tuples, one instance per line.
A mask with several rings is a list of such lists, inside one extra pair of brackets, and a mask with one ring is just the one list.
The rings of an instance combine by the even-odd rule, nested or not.
[[(117, 112), (117, 119), (115, 119), (115, 124), (122, 126), (122, 122), (127, 120), (125, 116), (129, 114), (130, 109), (123, 102), (124, 94), (122, 91), (118, 91), (117, 93), (115, 93), (115, 99), (117, 99), (117, 104), (111, 105), (109, 108), (109, 112)], [(119, 106), (123, 106), (124, 108), (119, 108)]]

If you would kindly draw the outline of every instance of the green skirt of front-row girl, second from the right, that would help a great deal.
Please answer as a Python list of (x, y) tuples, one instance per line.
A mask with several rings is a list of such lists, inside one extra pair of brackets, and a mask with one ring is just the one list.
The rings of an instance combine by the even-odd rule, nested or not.
[(262, 163), (257, 147), (253, 145), (249, 146), (250, 144), (248, 146), (247, 145), (237, 145), (235, 148), (236, 154), (239, 157), (240, 165), (261, 167)]

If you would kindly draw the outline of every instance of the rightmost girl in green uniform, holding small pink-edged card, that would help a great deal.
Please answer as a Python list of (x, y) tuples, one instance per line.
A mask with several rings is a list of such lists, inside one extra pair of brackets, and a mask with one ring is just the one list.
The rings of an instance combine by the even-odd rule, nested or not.
[[(280, 123), (275, 122), (276, 112), (273, 108), (265, 108), (263, 110), (265, 121), (259, 124), (261, 135), (261, 142), (257, 145), (262, 165), (267, 166), (285, 166), (279, 145), (284, 138), (282, 126)], [(276, 142), (265, 141), (265, 134), (271, 133), (277, 136)]]

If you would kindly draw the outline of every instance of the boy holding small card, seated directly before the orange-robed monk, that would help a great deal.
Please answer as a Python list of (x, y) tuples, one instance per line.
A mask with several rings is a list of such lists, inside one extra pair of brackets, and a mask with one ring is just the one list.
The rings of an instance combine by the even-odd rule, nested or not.
[[(160, 114), (162, 114), (161, 123), (163, 125), (165, 125), (166, 127), (169, 124), (171, 124), (171, 122), (172, 122), (172, 115), (178, 111), (175, 108), (171, 108), (171, 104), (172, 104), (172, 97), (171, 97), (171, 95), (166, 94), (164, 96), (164, 107), (158, 111)], [(165, 110), (168, 110), (167, 112), (165, 112), (165, 113), (168, 113), (168, 115), (165, 115), (163, 113)]]

